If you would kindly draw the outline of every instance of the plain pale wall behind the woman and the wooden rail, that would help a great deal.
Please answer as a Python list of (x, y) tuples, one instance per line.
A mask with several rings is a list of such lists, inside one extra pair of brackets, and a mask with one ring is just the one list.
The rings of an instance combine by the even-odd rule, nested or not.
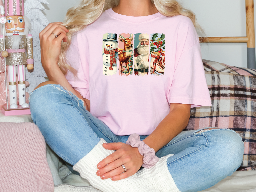
[[(78, 2), (79, 0), (48, 0), (49, 5), (45, 6), (44, 13), (49, 22), (63, 21), (68, 8)], [(246, 36), (245, 0), (180, 2), (196, 14), (207, 36)], [(247, 67), (246, 44), (204, 44), (201, 48), (203, 59)]]

